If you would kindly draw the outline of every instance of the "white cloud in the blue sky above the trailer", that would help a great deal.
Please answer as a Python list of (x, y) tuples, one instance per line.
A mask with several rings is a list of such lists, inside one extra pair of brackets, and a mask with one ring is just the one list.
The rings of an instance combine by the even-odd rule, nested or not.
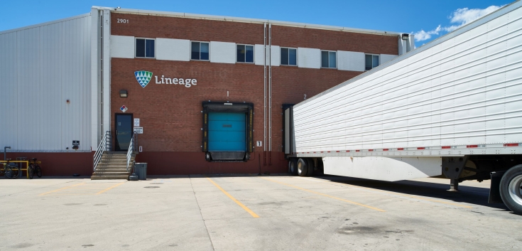
[(420, 30), (413, 33), (415, 37), (415, 41), (425, 41), (430, 39), (433, 35), (439, 35), (441, 31), (452, 32), (457, 28), (466, 25), (467, 23), (471, 23), (472, 21), (481, 18), (487, 14), (490, 14), (497, 9), (500, 9), (503, 6), (489, 6), (486, 9), (468, 9), (462, 8), (453, 11), (453, 13), (448, 17), (450, 19), (450, 23), (453, 23), (452, 26), (437, 26), (437, 28), (431, 31)]

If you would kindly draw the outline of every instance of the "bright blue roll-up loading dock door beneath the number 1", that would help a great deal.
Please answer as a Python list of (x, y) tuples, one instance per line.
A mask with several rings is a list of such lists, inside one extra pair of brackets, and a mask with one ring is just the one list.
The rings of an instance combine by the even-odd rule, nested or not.
[(208, 113), (208, 151), (246, 151), (246, 114)]

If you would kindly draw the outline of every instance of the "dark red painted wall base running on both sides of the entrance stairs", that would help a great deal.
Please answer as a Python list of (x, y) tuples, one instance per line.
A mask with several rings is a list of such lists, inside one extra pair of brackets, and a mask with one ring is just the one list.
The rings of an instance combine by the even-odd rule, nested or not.
[[(78, 173), (81, 176), (92, 175), (93, 152), (81, 153), (36, 153), (36, 152), (11, 152), (7, 153), (8, 159), (16, 160), (17, 157), (37, 158), (42, 161), (43, 176), (72, 176)], [(3, 159), (3, 156), (0, 157)], [(147, 163), (148, 175), (187, 175), (187, 174), (225, 174), (225, 173), (286, 173), (288, 161), (282, 152), (272, 152), (271, 165), (268, 163), (266, 152), (266, 165), (263, 152), (251, 154), (251, 160), (246, 162), (208, 162), (205, 161), (203, 152), (183, 151), (156, 151), (141, 152), (136, 156), (136, 162)], [(25, 166), (24, 166), (25, 168)], [(25, 172), (23, 173), (25, 175)]]

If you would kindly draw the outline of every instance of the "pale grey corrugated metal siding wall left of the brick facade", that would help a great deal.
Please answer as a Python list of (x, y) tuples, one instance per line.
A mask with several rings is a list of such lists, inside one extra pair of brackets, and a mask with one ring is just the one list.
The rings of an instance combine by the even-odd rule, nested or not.
[(82, 15), (0, 33), (2, 147), (90, 151), (90, 28)]

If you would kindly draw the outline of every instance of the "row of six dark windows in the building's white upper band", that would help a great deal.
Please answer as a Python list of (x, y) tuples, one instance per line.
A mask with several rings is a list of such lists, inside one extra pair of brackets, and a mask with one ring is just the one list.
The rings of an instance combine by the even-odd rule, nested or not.
[[(154, 39), (136, 38), (136, 58), (156, 58), (154, 49)], [(298, 65), (298, 53), (296, 48), (281, 47), (281, 65)], [(191, 60), (209, 60), (208, 42), (190, 43)], [(365, 70), (371, 70), (379, 66), (379, 55), (365, 55)], [(254, 63), (254, 46), (236, 46), (237, 63)], [(321, 50), (321, 67), (337, 68), (337, 51)]]

